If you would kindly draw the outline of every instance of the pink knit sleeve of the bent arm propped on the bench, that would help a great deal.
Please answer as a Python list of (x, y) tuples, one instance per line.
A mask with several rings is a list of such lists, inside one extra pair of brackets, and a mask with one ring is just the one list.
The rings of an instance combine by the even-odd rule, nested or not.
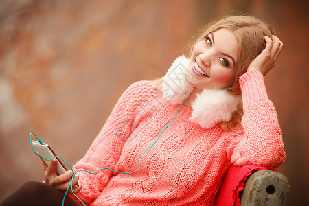
[(233, 133), (228, 157), (233, 165), (277, 168), (286, 159), (277, 113), (268, 99), (264, 76), (248, 71), (240, 78), (243, 131)]

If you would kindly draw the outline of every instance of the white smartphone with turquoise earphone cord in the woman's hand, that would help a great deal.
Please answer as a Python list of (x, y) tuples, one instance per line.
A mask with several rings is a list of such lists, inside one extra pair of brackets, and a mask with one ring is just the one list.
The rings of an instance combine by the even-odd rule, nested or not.
[[(56, 156), (55, 152), (52, 150), (52, 148), (48, 146), (48, 144), (45, 143), (41, 144), (38, 141), (32, 140), (32, 146), (34, 148), (34, 151), (38, 155), (44, 157), (45, 159), (51, 159)], [(67, 172), (67, 168), (65, 168), (65, 165), (62, 163), (62, 161), (58, 157), (55, 158), (57, 159), (56, 174), (60, 175), (62, 173)], [(45, 161), (45, 163), (47, 163), (47, 165), (49, 165), (51, 160), (45, 160), (45, 159), (43, 160)]]

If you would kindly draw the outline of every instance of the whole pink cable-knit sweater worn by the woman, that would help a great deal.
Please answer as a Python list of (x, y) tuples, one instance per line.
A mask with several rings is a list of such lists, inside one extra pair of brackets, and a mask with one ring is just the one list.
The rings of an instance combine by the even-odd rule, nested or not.
[(233, 165), (277, 167), (286, 158), (275, 108), (268, 100), (262, 73), (240, 78), (242, 128), (219, 125), (203, 129), (190, 122), (192, 111), (181, 106), (176, 124), (166, 129), (179, 105), (161, 97), (152, 82), (132, 84), (123, 93), (87, 155), (74, 166), (78, 196), (87, 205), (211, 205), (227, 169)]

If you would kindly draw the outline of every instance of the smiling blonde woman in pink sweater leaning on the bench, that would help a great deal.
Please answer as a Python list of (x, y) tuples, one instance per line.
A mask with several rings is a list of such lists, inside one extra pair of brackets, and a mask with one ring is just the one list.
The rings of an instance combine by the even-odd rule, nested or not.
[[(84, 204), (212, 205), (231, 165), (284, 162), (282, 133), (264, 85), (282, 42), (251, 16), (227, 16), (196, 39), (189, 58), (177, 58), (164, 78), (136, 82), (123, 93), (73, 167), (119, 171), (77, 172), (73, 192)], [(57, 176), (55, 167), (55, 161), (45, 165), (45, 184), (26, 183), (2, 205), (25, 203), (26, 196), (60, 204), (59, 191), (67, 190), (73, 173)], [(65, 204), (79, 205), (70, 196)]]

